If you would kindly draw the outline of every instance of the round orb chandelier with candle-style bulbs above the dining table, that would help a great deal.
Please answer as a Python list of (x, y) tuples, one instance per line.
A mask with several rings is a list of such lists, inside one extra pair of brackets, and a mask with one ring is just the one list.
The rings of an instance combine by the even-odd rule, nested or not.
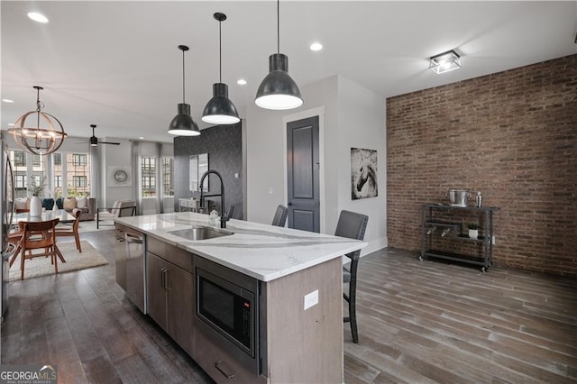
[[(23, 114), (14, 123), (14, 128), (10, 128), (8, 133), (14, 136), (14, 142), (18, 144), (23, 151), (35, 155), (48, 155), (56, 151), (64, 142), (66, 133), (62, 123), (51, 114), (41, 112), (44, 103), (40, 101), (40, 91), (43, 87), (34, 86), (36, 89), (36, 111), (30, 111)], [(33, 117), (36, 117), (34, 123)], [(30, 117), (30, 119), (29, 119)], [(32, 120), (32, 123), (27, 123)]]

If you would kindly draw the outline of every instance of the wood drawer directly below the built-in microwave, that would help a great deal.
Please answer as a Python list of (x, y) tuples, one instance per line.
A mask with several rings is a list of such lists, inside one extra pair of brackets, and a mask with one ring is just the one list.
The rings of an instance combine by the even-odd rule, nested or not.
[(240, 365), (234, 358), (212, 343), (205, 334), (196, 333), (195, 361), (217, 383), (266, 383), (262, 375), (256, 375)]

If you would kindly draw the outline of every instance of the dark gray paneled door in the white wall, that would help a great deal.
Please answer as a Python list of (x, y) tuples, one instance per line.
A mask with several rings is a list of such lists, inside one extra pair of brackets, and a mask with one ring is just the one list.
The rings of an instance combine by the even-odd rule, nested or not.
[(319, 233), (318, 116), (287, 124), (289, 228)]

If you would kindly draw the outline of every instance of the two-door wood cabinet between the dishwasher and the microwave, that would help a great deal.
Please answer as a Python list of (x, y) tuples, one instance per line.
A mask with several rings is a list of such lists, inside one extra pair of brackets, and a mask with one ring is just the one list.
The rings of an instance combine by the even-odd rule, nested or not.
[(190, 356), (194, 354), (193, 257), (147, 236), (148, 314)]

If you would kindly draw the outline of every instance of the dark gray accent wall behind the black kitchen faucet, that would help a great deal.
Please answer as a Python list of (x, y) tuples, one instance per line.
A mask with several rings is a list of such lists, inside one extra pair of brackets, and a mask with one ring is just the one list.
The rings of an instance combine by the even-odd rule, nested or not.
[[(179, 210), (179, 198), (200, 197), (188, 190), (189, 157), (208, 153), (208, 168), (218, 171), (224, 181), (225, 209), (234, 205), (235, 219), (243, 218), (243, 129), (242, 123), (215, 125), (199, 136), (174, 138), (174, 209)], [(238, 177), (235, 177), (237, 175)], [(201, 175), (199, 175), (200, 178)], [(210, 193), (220, 192), (220, 181), (209, 175)], [(220, 211), (220, 197), (209, 197)]]

